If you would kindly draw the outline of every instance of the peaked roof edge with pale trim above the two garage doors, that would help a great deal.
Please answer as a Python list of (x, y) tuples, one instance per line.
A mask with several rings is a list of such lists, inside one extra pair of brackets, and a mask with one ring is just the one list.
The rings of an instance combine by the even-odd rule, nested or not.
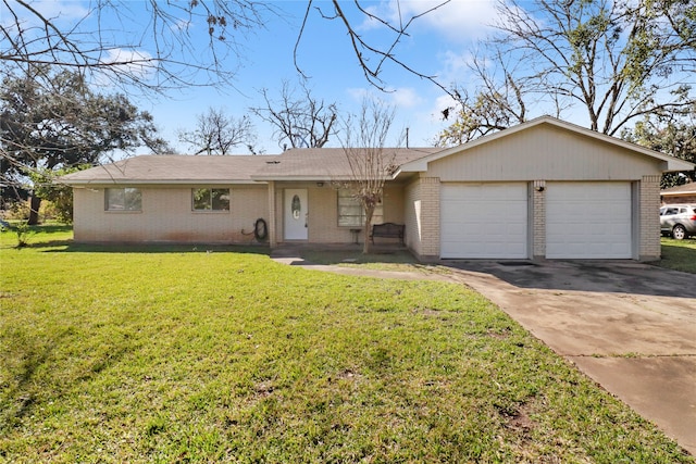
[(608, 136), (606, 134), (600, 134), (600, 133), (598, 133), (596, 130), (591, 130), (591, 129), (587, 129), (585, 127), (581, 127), (581, 126), (577, 126), (575, 124), (571, 124), (571, 123), (558, 120), (556, 117), (542, 116), (542, 117), (534, 118), (532, 121), (527, 121), (526, 123), (522, 123), (522, 124), (520, 124), (518, 126), (510, 127), (510, 128), (507, 128), (505, 130), (500, 130), (498, 133), (477, 138), (477, 139), (475, 139), (473, 141), (470, 141), (470, 142), (467, 142), (467, 143), (463, 143), (463, 145), (460, 145), (460, 146), (457, 146), (457, 147), (452, 147), (452, 148), (449, 148), (449, 149), (446, 149), (446, 150), (440, 150), (439, 152), (434, 153), (434, 154), (432, 154), (430, 156), (421, 158), (419, 160), (406, 163), (400, 167), (399, 172), (405, 172), (405, 173), (407, 173), (407, 172), (425, 172), (425, 171), (427, 171), (427, 164), (428, 163), (432, 163), (434, 161), (440, 160), (443, 158), (449, 156), (449, 155), (455, 154), (455, 153), (464, 152), (464, 151), (470, 150), (470, 149), (472, 149), (474, 147), (478, 147), (478, 146), (482, 146), (484, 143), (488, 143), (488, 142), (492, 142), (494, 140), (498, 140), (498, 139), (501, 139), (504, 137), (509, 137), (509, 136), (511, 136), (513, 134), (518, 134), (520, 131), (527, 130), (527, 129), (530, 129), (532, 127), (542, 126), (542, 125), (550, 125), (550, 126), (554, 126), (554, 127), (558, 127), (558, 128), (561, 128), (561, 129), (564, 129), (564, 130), (568, 130), (568, 131), (571, 131), (571, 133), (574, 133), (574, 134), (579, 134), (579, 135), (582, 135), (582, 136), (585, 136), (585, 137), (589, 137), (589, 138), (602, 141), (605, 143), (613, 145), (616, 147), (621, 147), (623, 149), (633, 151), (635, 153), (639, 153), (639, 154), (645, 155), (645, 156), (649, 156), (649, 158), (655, 159), (655, 160), (659, 160), (659, 161), (663, 162), (663, 168), (662, 168), (663, 172), (669, 172), (669, 171), (692, 171), (692, 170), (694, 170), (694, 164), (693, 163), (689, 163), (689, 162), (684, 161), (684, 160), (680, 160), (679, 158), (674, 158), (674, 156), (671, 156), (669, 154), (660, 153), (658, 151), (650, 150), (648, 148), (641, 147), (638, 145), (631, 143), (631, 142), (627, 142), (625, 140), (621, 140), (621, 139), (618, 139), (616, 137)]

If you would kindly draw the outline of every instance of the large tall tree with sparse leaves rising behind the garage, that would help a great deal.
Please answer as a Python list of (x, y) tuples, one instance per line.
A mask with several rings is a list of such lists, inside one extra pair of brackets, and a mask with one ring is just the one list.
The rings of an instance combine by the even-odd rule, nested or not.
[(549, 109), (581, 109), (591, 129), (617, 135), (645, 115), (663, 117), (696, 101), (693, 2), (499, 0), (498, 11), (498, 33), (471, 66), (482, 90), (459, 92), (458, 120), (442, 143)]

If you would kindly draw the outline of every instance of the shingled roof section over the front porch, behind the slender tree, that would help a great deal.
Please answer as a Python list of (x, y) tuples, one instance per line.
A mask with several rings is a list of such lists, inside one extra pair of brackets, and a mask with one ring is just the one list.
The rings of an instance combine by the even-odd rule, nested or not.
[[(364, 149), (357, 149), (364, 150)], [(395, 166), (431, 155), (442, 148), (384, 148)], [(343, 148), (302, 148), (283, 152), (251, 176), (257, 180), (349, 180), (352, 171)]]

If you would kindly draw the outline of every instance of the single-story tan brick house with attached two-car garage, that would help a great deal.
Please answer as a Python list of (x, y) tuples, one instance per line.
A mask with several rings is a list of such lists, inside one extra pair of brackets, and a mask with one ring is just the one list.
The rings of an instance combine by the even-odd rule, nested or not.
[[(692, 163), (544, 116), (394, 155), (373, 224), (439, 259), (660, 258), (660, 175)], [(279, 155), (148, 155), (70, 174), (78, 242), (349, 243), (362, 210), (343, 149)], [(364, 240), (365, 237), (359, 237)]]

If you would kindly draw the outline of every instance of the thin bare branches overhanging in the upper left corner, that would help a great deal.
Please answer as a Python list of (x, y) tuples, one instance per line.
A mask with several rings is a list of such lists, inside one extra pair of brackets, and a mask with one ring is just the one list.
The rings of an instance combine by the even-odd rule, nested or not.
[(226, 59), (240, 57), (238, 37), (276, 11), (253, 0), (94, 0), (62, 14), (27, 0), (2, 3), (0, 62), (8, 66), (52, 64), (160, 92), (231, 81), (236, 67)]

